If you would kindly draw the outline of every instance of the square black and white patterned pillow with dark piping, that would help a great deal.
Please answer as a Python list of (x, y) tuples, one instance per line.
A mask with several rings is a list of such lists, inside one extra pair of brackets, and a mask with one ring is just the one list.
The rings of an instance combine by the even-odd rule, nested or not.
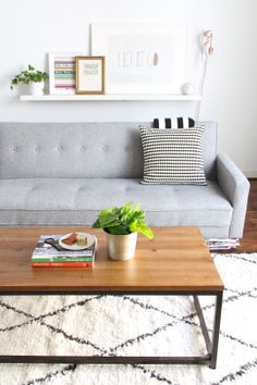
[(142, 184), (207, 185), (201, 147), (204, 127), (139, 127), (139, 132), (144, 153)]

